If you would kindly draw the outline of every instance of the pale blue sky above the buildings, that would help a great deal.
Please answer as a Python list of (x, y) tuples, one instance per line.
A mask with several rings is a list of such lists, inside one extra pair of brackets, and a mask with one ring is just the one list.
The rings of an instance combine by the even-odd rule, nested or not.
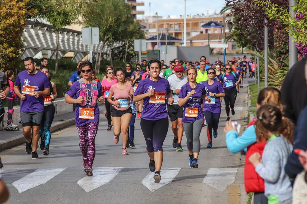
[[(179, 18), (180, 15), (185, 13), (184, 0), (137, 0), (137, 2), (144, 2), (145, 6), (137, 6), (137, 10), (144, 10), (145, 16), (153, 16), (158, 12), (158, 16), (166, 18)], [(213, 14), (220, 13), (220, 10), (225, 5), (225, 0), (186, 0), (187, 2), (187, 15), (196, 15), (204, 13)], [(151, 3), (151, 9), (149, 8)], [(137, 15), (138, 19), (142, 19), (142, 15)]]

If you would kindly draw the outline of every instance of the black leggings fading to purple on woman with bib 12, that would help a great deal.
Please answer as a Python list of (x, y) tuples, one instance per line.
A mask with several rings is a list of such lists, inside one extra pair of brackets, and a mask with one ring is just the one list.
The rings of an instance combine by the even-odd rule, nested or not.
[(141, 118), (141, 128), (146, 141), (148, 152), (163, 151), (163, 142), (169, 129), (168, 118), (148, 121)]

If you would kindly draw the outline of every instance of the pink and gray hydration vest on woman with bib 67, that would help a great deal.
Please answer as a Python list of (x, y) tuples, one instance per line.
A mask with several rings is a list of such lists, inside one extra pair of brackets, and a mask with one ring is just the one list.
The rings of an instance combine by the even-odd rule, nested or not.
[[(97, 81), (93, 80), (91, 84), (91, 89), (87, 89), (86, 83), (84, 83), (83, 79), (79, 79), (78, 82), (80, 83), (80, 96), (83, 96), (83, 102), (80, 103), (81, 106), (85, 106), (86, 104), (95, 106), (97, 103), (97, 96), (98, 96), (98, 87)], [(91, 92), (89, 96), (87, 91)]]

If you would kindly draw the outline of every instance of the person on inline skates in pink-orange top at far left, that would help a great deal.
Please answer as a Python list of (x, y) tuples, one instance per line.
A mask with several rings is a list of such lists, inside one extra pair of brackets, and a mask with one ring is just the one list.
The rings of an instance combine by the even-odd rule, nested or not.
[(14, 92), (14, 78), (15, 78), (15, 75), (14, 75), (14, 72), (12, 70), (7, 70), (5, 72), (5, 75), (6, 75), (6, 78), (7, 80), (9, 81), (9, 84), (10, 84), (10, 92), (7, 94), (6, 96), (6, 102), (7, 102), (7, 127), (4, 128), (6, 131), (7, 130), (19, 130), (18, 128), (18, 125), (15, 125), (13, 123), (13, 120), (12, 120), (12, 115), (14, 113), (14, 109), (13, 109), (13, 106), (14, 106), (14, 101), (18, 101), (18, 97), (17, 95), (15, 94)]

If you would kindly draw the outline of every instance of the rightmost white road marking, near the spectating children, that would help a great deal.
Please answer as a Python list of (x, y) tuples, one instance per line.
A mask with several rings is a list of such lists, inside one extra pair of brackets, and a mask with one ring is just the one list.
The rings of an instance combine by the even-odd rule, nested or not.
[(235, 181), (237, 170), (238, 168), (210, 168), (203, 183), (218, 191), (224, 191), (228, 185)]

